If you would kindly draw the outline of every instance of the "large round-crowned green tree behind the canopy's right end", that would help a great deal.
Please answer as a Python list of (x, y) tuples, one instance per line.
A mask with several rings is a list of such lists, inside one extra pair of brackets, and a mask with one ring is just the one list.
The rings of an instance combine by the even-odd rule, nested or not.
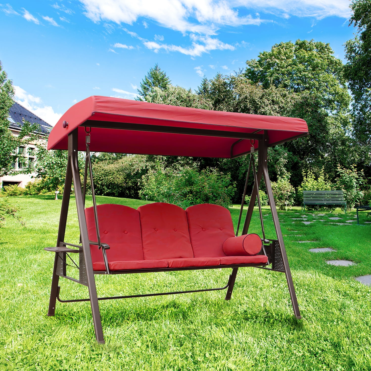
[(351, 97), (344, 65), (329, 44), (314, 40), (281, 42), (246, 64), (245, 76), (254, 84), (295, 93), (296, 100), (287, 115), (308, 123), (308, 137), (284, 145), (291, 154), (288, 165), (295, 185), (301, 183), (303, 169), (319, 171), (325, 166), (325, 171), (335, 177), (337, 155), (344, 161), (342, 165), (349, 165), (347, 155), (355, 155), (347, 136)]

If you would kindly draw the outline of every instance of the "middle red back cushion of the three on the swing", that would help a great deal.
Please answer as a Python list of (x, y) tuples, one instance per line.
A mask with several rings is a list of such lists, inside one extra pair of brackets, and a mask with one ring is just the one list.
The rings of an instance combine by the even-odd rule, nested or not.
[(181, 207), (157, 202), (138, 207), (144, 259), (193, 257), (187, 216)]

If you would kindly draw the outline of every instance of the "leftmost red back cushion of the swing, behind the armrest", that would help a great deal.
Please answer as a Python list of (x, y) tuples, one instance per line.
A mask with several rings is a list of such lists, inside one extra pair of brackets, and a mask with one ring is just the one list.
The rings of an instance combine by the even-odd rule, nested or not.
[[(138, 210), (114, 204), (98, 205), (97, 210), (101, 242), (108, 243), (110, 247), (106, 250), (108, 261), (143, 260)], [(89, 240), (97, 242), (92, 207), (85, 209), (85, 216)], [(93, 263), (103, 262), (98, 246), (90, 245), (90, 251)]]

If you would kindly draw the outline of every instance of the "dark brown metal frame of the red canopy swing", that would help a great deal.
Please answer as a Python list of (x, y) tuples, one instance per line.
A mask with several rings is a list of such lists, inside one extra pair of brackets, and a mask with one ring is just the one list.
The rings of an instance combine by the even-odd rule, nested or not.
[[(85, 127), (98, 127), (100, 121), (93, 121), (88, 120), (82, 126)], [(92, 125), (95, 123), (95, 125)], [(101, 122), (102, 123), (102, 122)], [(106, 122), (104, 122), (106, 125)], [(134, 124), (122, 124), (122, 123), (110, 123), (112, 124), (112, 128), (117, 129), (129, 129), (128, 125)], [(124, 126), (125, 125), (125, 126)], [(135, 124), (136, 125), (136, 124)], [(145, 126), (145, 130), (148, 131), (148, 127), (150, 125), (140, 125), (143, 129)], [(106, 127), (106, 126), (105, 126)], [(139, 128), (130, 128), (131, 130), (139, 130)], [(172, 128), (174, 129), (174, 128)], [(196, 133), (196, 129), (189, 129), (188, 132), (184, 132), (184, 128), (180, 128), (183, 130), (182, 134), (191, 134), (191, 135), (211, 135), (215, 136), (215, 131), (205, 130), (205, 133)], [(161, 131), (161, 132), (169, 132), (169, 127), (158, 127), (158, 129), (153, 131)], [(179, 132), (179, 131), (177, 131)], [(209, 132), (209, 134), (206, 134)], [(293, 311), (295, 317), (300, 319), (301, 315), (299, 312), (299, 306), (295, 295), (295, 289), (292, 282), (292, 277), (290, 273), (290, 267), (286, 255), (285, 245), (283, 243), (282, 232), (280, 230), (278, 214), (274, 202), (274, 197), (272, 193), (272, 187), (270, 185), (269, 175), (268, 175), (268, 168), (267, 168), (267, 148), (268, 148), (268, 137), (267, 132), (262, 134), (244, 134), (244, 133), (232, 133), (232, 132), (218, 132), (220, 135), (224, 137), (233, 137), (233, 138), (240, 138), (245, 139), (258, 139), (259, 137), (259, 166), (257, 170), (257, 174), (255, 177), (255, 185), (252, 191), (252, 196), (250, 198), (249, 207), (246, 214), (246, 219), (243, 226), (242, 234), (247, 234), (252, 212), (255, 204), (255, 199), (257, 197), (258, 187), (260, 184), (260, 180), (264, 178), (266, 190), (269, 198), (270, 208), (272, 210), (273, 216), (273, 223), (275, 225), (275, 230), (277, 234), (278, 240), (270, 240), (270, 245), (264, 246), (264, 250), (267, 252), (266, 255), (268, 256), (268, 263), (267, 264), (241, 264), (241, 265), (223, 265), (223, 266), (207, 266), (207, 267), (182, 267), (182, 268), (165, 268), (165, 269), (137, 269), (137, 270), (122, 270), (122, 271), (93, 271), (92, 259), (91, 259), (91, 252), (90, 252), (90, 244), (99, 244), (96, 242), (89, 241), (88, 238), (88, 229), (86, 226), (86, 219), (85, 219), (85, 190), (86, 190), (86, 179), (84, 181), (84, 189), (82, 190), (81, 187), (81, 180), (80, 180), (80, 173), (79, 173), (79, 165), (78, 165), (78, 129), (76, 128), (73, 132), (68, 135), (68, 164), (66, 170), (66, 180), (65, 180), (65, 188), (63, 191), (63, 199), (62, 199), (62, 207), (60, 211), (60, 220), (59, 220), (59, 229), (58, 229), (58, 237), (57, 237), (57, 247), (55, 248), (46, 248), (47, 250), (55, 252), (55, 260), (54, 260), (54, 268), (53, 268), (53, 276), (52, 276), (52, 288), (50, 292), (50, 301), (49, 301), (49, 310), (47, 315), (53, 316), (55, 315), (55, 305), (56, 300), (58, 299), (60, 302), (79, 302), (79, 301), (90, 301), (91, 309), (92, 309), (92, 316), (93, 316), (93, 324), (95, 330), (95, 337), (98, 343), (104, 344), (104, 336), (102, 330), (102, 322), (101, 316), (99, 312), (99, 300), (108, 300), (108, 299), (121, 299), (121, 298), (137, 298), (142, 296), (157, 296), (157, 295), (172, 295), (176, 293), (190, 293), (190, 292), (203, 292), (203, 291), (213, 291), (213, 290), (223, 290), (227, 289), (226, 300), (229, 300), (232, 295), (234, 282), (236, 279), (237, 271), (239, 267), (257, 267), (257, 268), (264, 268), (270, 270), (276, 270), (278, 272), (285, 272), (286, 280), (289, 287), (289, 293), (291, 297), (291, 302), (293, 306)], [(252, 138), (253, 137), (253, 138)], [(91, 165), (89, 166), (90, 175), (92, 176), (91, 172)], [(85, 178), (87, 176), (87, 166), (85, 166)], [(76, 197), (76, 207), (78, 213), (78, 220), (79, 220), (79, 227), (80, 227), (80, 239), (81, 245), (75, 245), (64, 242), (65, 237), (65, 230), (66, 230), (66, 221), (67, 221), (67, 214), (68, 214), (68, 207), (69, 207), (69, 200), (70, 200), (70, 191), (72, 186), (72, 181), (74, 184), (75, 189), (75, 197)], [(92, 182), (91, 182), (92, 183)], [(246, 188), (246, 187), (245, 187)], [(96, 206), (95, 206), (96, 207)], [(65, 246), (73, 246), (78, 247), (79, 250), (73, 250), (66, 248)], [(103, 245), (103, 244), (102, 244)], [(104, 249), (102, 249), (104, 250)], [(80, 256), (80, 280), (76, 280), (70, 278), (66, 275), (66, 254), (68, 255), (69, 252), (79, 252)], [(275, 259), (279, 259), (282, 261), (282, 266), (278, 267), (275, 265)], [(62, 263), (63, 269), (60, 272), (58, 267), (60, 267), (60, 262)], [(272, 263), (272, 268), (267, 268), (267, 265)], [(76, 265), (76, 264), (75, 264)], [(153, 293), (153, 294), (141, 294), (141, 295), (128, 295), (128, 296), (113, 296), (113, 297), (106, 297), (106, 298), (98, 298), (96, 292), (96, 285), (95, 285), (95, 274), (128, 274), (128, 273), (145, 273), (145, 272), (169, 272), (169, 271), (176, 271), (176, 270), (197, 270), (197, 269), (216, 269), (216, 268), (232, 268), (232, 274), (229, 276), (229, 280), (226, 286), (222, 288), (213, 288), (213, 289), (200, 289), (200, 290), (190, 290), (190, 291), (180, 291), (180, 292), (167, 292), (167, 293)], [(83, 272), (82, 272), (83, 270)], [(83, 273), (83, 274), (82, 274)], [(83, 285), (88, 286), (89, 288), (89, 298), (88, 299), (72, 299), (72, 300), (62, 300), (59, 298), (60, 286), (59, 283), (59, 276), (64, 278), (72, 279), (75, 282), (82, 283)]]

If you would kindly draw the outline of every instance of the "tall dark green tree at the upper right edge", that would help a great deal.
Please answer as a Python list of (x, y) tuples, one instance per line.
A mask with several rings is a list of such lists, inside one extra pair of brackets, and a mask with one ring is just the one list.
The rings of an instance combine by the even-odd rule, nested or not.
[[(353, 131), (360, 145), (371, 146), (371, 1), (354, 0), (349, 26), (357, 27), (354, 39), (345, 43), (345, 76), (349, 81), (354, 103)], [(368, 154), (370, 159), (370, 155)]]

